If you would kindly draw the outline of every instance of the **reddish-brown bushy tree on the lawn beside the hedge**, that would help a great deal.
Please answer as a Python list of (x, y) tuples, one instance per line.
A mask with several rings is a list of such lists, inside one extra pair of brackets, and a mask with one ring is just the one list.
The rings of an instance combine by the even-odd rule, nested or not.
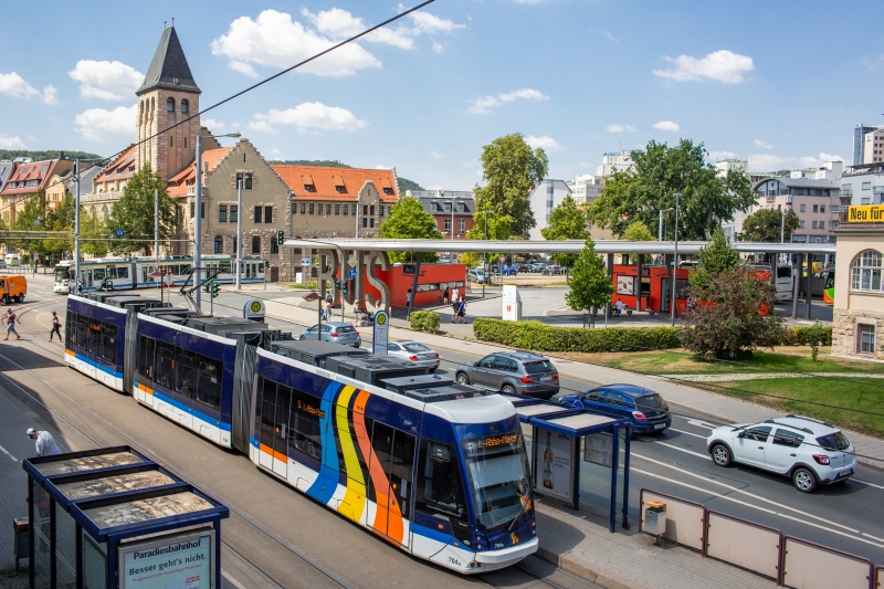
[(775, 288), (749, 267), (708, 274), (702, 286), (687, 292), (698, 303), (684, 316), (682, 345), (707, 358), (745, 359), (759, 347), (783, 340), (782, 317), (774, 312)]

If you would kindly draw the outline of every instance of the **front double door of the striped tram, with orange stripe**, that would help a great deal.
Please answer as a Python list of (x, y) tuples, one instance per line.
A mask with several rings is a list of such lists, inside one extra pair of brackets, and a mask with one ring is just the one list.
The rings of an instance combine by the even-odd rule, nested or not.
[(375, 465), (369, 465), (375, 503), (378, 506), (375, 522), (369, 524), (380, 534), (410, 547), (411, 534), (406, 537), (404, 532), (406, 522), (411, 519), (411, 476), (414, 471), (415, 438), (376, 421), (371, 434), (371, 448), (375, 450), (377, 465), (383, 470), (386, 480), (377, 481), (373, 476), (377, 470)]

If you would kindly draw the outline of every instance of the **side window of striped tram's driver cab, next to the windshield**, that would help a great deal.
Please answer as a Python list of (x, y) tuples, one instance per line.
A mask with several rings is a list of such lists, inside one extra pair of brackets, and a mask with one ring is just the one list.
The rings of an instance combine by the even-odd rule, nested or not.
[(469, 522), (457, 453), (451, 444), (421, 440), (417, 491), (415, 509)]

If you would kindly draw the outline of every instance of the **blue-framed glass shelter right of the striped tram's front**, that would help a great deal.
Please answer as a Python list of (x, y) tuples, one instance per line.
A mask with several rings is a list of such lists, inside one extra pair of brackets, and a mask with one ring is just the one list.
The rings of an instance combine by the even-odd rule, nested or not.
[(630, 432), (628, 419), (551, 401), (503, 395), (516, 408), (534, 491), (575, 509), (580, 499), (608, 512), (609, 530), (629, 529)]

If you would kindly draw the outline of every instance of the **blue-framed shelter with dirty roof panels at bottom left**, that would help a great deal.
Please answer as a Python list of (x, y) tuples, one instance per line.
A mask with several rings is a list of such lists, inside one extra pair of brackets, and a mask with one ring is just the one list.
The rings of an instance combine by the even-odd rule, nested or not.
[(227, 506), (129, 446), (27, 459), (32, 589), (221, 586)]

